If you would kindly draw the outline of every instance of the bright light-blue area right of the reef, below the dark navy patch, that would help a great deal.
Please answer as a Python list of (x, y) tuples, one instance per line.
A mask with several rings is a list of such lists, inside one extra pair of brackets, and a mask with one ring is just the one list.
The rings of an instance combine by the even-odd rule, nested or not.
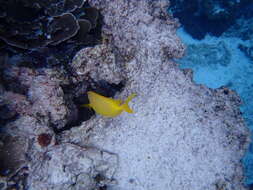
[[(193, 39), (183, 28), (178, 35), (187, 45), (186, 55), (177, 60), (181, 68), (191, 68), (193, 79), (209, 88), (227, 86), (235, 90), (243, 100), (240, 107), (246, 124), (253, 131), (253, 60), (243, 53), (239, 44), (253, 46), (250, 40), (233, 35), (214, 37), (206, 35), (202, 40)], [(243, 158), (245, 184), (253, 184), (253, 144)]]

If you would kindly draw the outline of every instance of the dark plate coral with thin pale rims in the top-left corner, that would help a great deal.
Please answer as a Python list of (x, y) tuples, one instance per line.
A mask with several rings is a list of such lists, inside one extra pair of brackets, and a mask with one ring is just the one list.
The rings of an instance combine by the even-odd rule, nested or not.
[(66, 55), (100, 41), (99, 12), (85, 0), (1, 1), (0, 6), (3, 49), (10, 55), (19, 52), (19, 60), (28, 65), (66, 63), (71, 60)]

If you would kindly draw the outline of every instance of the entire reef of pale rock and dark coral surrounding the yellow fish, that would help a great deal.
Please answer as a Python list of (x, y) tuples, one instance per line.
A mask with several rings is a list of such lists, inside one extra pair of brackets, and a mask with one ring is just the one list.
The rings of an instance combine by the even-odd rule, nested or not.
[[(239, 160), (248, 131), (238, 109), (241, 101), (229, 89), (194, 84), (191, 71), (169, 60), (181, 57), (184, 46), (176, 36), (179, 23), (167, 14), (167, 0), (1, 3), (22, 14), (35, 7), (23, 18), (6, 8), (2, 23), (22, 18), (19, 23), (47, 25), (42, 45), (30, 40), (40, 39), (36, 27), (43, 24), (29, 29), (31, 34), (21, 28), (17, 38), (11, 36), (19, 43), (21, 35), (26, 49), (12, 47), (0, 30), (0, 117), (6, 135), (1, 138), (1, 161), (6, 163), (1, 186), (244, 189)], [(99, 41), (97, 10), (104, 18), (103, 44), (86, 47)], [(69, 33), (61, 33), (70, 26)], [(215, 57), (224, 45), (209, 48)], [(136, 114), (95, 117), (81, 107), (88, 90), (122, 99), (135, 92)], [(10, 146), (11, 155), (6, 153)]]

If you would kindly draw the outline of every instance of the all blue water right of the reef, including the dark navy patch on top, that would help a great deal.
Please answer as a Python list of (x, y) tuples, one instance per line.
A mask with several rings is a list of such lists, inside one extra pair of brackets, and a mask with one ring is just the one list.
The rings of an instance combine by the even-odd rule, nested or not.
[[(187, 51), (177, 60), (194, 71), (194, 81), (210, 88), (227, 86), (243, 100), (240, 107), (253, 132), (253, 1), (171, 1), (179, 18), (178, 35)], [(230, 4), (229, 4), (230, 3)], [(253, 143), (242, 159), (245, 184), (253, 185)]]

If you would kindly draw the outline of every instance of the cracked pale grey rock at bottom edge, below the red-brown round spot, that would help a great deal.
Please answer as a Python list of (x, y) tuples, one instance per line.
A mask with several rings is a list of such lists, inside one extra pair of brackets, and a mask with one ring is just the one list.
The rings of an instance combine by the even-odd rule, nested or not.
[(118, 160), (106, 151), (66, 143), (51, 147), (31, 163), (31, 190), (95, 190), (114, 183)]

